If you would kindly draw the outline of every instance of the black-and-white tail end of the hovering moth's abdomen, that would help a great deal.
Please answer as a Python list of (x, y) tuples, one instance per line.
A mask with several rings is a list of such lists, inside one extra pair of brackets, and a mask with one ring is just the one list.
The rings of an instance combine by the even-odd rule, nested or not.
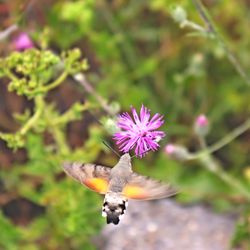
[(120, 193), (108, 192), (105, 195), (102, 216), (107, 217), (107, 223), (117, 225), (124, 215), (128, 205), (128, 200)]

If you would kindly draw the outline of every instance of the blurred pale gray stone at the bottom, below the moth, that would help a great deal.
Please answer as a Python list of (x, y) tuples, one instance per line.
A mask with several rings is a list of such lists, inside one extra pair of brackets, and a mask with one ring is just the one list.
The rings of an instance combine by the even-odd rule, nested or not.
[(234, 228), (233, 216), (202, 205), (129, 201), (120, 224), (105, 226), (95, 242), (101, 250), (227, 250)]

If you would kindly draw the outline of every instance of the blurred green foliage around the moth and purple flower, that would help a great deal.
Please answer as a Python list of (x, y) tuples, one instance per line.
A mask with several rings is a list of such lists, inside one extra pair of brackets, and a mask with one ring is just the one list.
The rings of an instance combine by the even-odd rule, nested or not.
[[(200, 113), (210, 119), (209, 145), (249, 117), (249, 86), (229, 63), (220, 43), (192, 29), (192, 24), (181, 25), (192, 20), (204, 27), (190, 1), (178, 4), (173, 0), (56, 1), (46, 13), (47, 24), (37, 25), (34, 34), (44, 50), (13, 52), (1, 59), (0, 74), (11, 80), (9, 90), (33, 100), (34, 114), (41, 111), (25, 133), (1, 133), (9, 146), (25, 147), (28, 155), (25, 164), (2, 171), (1, 179), (6, 190), (44, 207), (45, 213), (26, 227), (13, 225), (1, 213), (4, 233), (0, 234), (0, 248), (92, 249), (91, 236), (104, 224), (100, 216), (102, 198), (69, 178), (60, 178), (64, 160), (99, 159), (101, 140), (108, 135), (102, 126), (86, 127), (88, 140), (77, 149), (68, 146), (66, 128), (83, 117), (86, 109), (102, 107), (90, 96), (86, 104), (76, 103), (61, 114), (53, 103), (45, 101), (48, 92), (69, 75), (87, 70), (86, 60), (79, 61), (79, 50), (57, 56), (46, 49), (79, 47), (88, 59), (88, 79), (99, 95), (116, 101), (122, 110), (130, 105), (139, 108), (143, 103), (153, 112), (164, 114), (167, 141), (191, 151), (200, 147), (193, 132), (195, 117)], [(247, 4), (207, 1), (219, 32), (246, 69), (250, 66)], [(27, 30), (28, 26), (23, 28)], [(19, 74), (13, 77), (10, 70)], [(58, 72), (66, 73), (60, 78)], [(32, 117), (30, 111), (16, 116), (22, 126), (19, 131)], [(110, 122), (113, 117), (100, 119)], [(49, 145), (43, 140), (45, 131), (54, 139)], [(227, 173), (250, 190), (249, 148), (248, 133), (216, 152), (216, 157)], [(102, 162), (112, 165), (116, 161), (113, 158), (103, 157)], [(178, 197), (180, 202), (205, 201), (221, 212), (244, 211), (233, 243), (250, 244), (249, 201), (202, 168), (201, 163), (179, 163), (167, 158), (162, 150), (148, 155), (147, 160), (135, 160), (134, 169), (180, 186), (184, 190)]]

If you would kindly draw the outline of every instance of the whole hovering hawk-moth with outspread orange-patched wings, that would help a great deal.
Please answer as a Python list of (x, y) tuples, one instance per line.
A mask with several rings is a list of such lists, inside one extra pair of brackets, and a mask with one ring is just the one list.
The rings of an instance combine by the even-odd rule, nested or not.
[(121, 156), (113, 168), (65, 163), (63, 169), (76, 181), (105, 195), (102, 216), (107, 218), (108, 224), (119, 223), (126, 211), (128, 199), (154, 200), (176, 194), (176, 190), (169, 184), (134, 173), (129, 153)]

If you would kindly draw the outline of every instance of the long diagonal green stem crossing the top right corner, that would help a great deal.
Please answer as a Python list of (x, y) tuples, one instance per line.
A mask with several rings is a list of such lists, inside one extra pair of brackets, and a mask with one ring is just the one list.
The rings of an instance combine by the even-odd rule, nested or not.
[(234, 66), (235, 70), (239, 73), (239, 75), (245, 81), (245, 83), (247, 85), (250, 85), (250, 79), (249, 79), (248, 75), (246, 74), (245, 70), (241, 66), (241, 64), (238, 61), (238, 59), (231, 52), (231, 50), (229, 49), (229, 47), (227, 46), (227, 44), (223, 40), (223, 38), (220, 35), (220, 33), (218, 32), (218, 28), (216, 27), (216, 25), (212, 21), (212, 18), (210, 16), (210, 14), (208, 13), (208, 11), (206, 10), (205, 6), (202, 4), (202, 2), (200, 0), (192, 0), (192, 1), (193, 1), (194, 5), (195, 5), (197, 11), (199, 12), (201, 18), (203, 19), (203, 21), (207, 25), (208, 32), (210, 32), (211, 34), (214, 35), (214, 38), (217, 40), (217, 42), (219, 43), (219, 45), (225, 51), (228, 60)]

